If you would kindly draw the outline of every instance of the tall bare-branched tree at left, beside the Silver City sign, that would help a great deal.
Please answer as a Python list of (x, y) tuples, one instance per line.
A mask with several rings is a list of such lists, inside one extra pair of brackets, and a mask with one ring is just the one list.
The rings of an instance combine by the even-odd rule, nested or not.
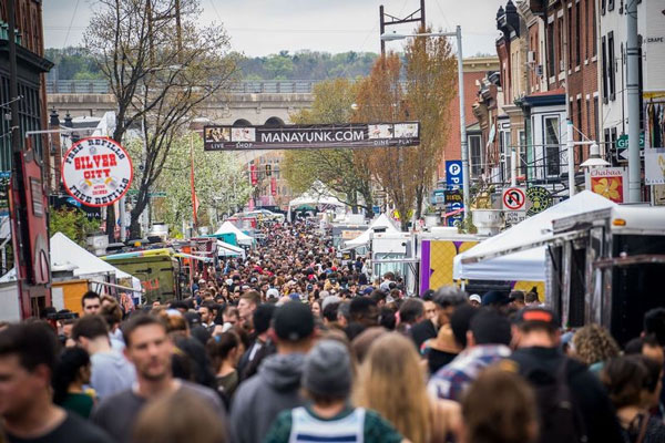
[[(229, 41), (218, 24), (197, 25), (197, 0), (99, 0), (85, 32), (117, 101), (113, 140), (131, 128), (144, 140), (131, 236), (140, 236), (139, 217), (150, 189), (162, 174), (174, 141), (205, 100), (223, 94), (235, 73)], [(134, 159), (135, 161), (135, 159)], [(114, 214), (109, 207), (106, 233)]]

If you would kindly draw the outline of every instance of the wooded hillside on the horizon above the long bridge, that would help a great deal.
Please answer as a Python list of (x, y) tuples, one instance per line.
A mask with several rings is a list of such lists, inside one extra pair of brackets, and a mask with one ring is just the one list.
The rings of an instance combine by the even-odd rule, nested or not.
[[(369, 75), (377, 54), (371, 52), (280, 51), (267, 56), (238, 58), (243, 80), (331, 80)], [(103, 79), (102, 72), (85, 48), (49, 48), (47, 59), (55, 63), (58, 80)]]

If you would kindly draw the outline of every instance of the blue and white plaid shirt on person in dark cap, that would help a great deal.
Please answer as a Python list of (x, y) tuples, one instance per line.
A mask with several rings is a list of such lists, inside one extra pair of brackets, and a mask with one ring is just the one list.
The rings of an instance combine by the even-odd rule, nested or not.
[(431, 377), (427, 389), (439, 399), (460, 401), (462, 393), (480, 371), (508, 357), (510, 348), (503, 344), (481, 344), (464, 349)]

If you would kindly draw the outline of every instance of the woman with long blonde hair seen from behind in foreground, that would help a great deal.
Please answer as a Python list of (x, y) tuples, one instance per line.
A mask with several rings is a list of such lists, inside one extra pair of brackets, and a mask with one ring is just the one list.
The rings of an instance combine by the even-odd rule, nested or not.
[(379, 337), (369, 348), (354, 402), (379, 412), (412, 443), (446, 442), (460, 424), (459, 404), (428, 395), (413, 342), (397, 332)]

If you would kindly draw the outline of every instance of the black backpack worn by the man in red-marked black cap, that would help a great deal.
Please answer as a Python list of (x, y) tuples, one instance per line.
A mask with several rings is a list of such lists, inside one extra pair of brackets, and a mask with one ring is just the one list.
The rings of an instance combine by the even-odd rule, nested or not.
[(534, 369), (524, 374), (535, 391), (539, 408), (539, 443), (585, 443), (586, 430), (580, 408), (572, 398), (569, 385), (567, 358), (552, 374)]

